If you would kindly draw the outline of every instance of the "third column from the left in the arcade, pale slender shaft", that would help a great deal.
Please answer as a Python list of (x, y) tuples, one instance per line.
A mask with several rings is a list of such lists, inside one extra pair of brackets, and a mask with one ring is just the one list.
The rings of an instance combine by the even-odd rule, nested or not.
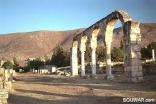
[(96, 75), (96, 47), (92, 48), (92, 75)]

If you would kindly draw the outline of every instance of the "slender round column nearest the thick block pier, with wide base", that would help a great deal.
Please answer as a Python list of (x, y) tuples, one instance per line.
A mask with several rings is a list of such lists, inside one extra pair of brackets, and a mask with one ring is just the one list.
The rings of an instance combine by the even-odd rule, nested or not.
[(106, 44), (106, 78), (108, 80), (114, 79), (111, 69), (111, 43)]

